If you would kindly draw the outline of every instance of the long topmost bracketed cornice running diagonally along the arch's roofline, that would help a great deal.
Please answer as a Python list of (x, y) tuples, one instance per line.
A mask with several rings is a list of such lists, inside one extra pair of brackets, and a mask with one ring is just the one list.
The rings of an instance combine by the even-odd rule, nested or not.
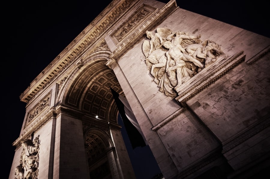
[(63, 74), (76, 59), (82, 56), (83, 52), (95, 48), (93, 44), (99, 42), (108, 29), (138, 1), (114, 0), (31, 82), (30, 86), (20, 95), (20, 100), (29, 103), (30, 100), (35, 98), (36, 94), (43, 91), (57, 76)]

